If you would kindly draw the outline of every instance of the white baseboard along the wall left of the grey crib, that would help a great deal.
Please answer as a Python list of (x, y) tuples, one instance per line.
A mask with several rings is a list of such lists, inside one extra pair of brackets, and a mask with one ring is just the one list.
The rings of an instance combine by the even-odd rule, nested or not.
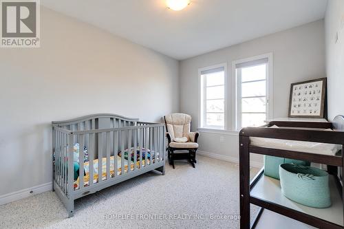
[(17, 201), (19, 199), (23, 199), (26, 197), (30, 197), (32, 195), (36, 195), (39, 193), (44, 193), (49, 190), (52, 190), (52, 182), (49, 182), (46, 184), (40, 184), (38, 186), (34, 186), (31, 188), (25, 188), (23, 190), (19, 190), (13, 193), (0, 195), (0, 205), (8, 204), (10, 202)]

